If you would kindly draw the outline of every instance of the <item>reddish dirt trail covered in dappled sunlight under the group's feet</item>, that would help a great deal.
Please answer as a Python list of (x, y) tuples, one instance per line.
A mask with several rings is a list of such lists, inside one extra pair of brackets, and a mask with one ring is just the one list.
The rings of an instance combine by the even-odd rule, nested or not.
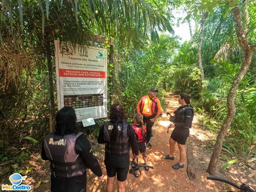
[[(179, 160), (179, 150), (178, 146), (175, 145), (175, 160), (164, 160), (162, 155), (169, 154), (169, 138), (173, 129), (169, 130), (167, 134), (166, 126), (170, 123), (169, 117), (166, 116), (166, 112), (173, 112), (179, 107), (178, 96), (167, 96), (166, 97), (166, 110), (161, 120), (155, 123), (153, 127), (153, 141), (151, 142), (152, 148), (147, 149), (148, 162), (149, 165), (153, 166), (154, 169), (145, 171), (141, 169), (141, 175), (139, 178), (135, 178), (133, 175), (128, 174), (126, 182), (126, 190), (138, 191), (138, 192), (163, 192), (163, 191), (227, 191), (224, 190), (224, 184), (219, 182), (213, 182), (206, 180), (206, 169), (210, 160), (210, 149), (206, 148), (210, 138), (214, 136), (209, 130), (205, 130), (200, 122), (197, 121), (197, 116), (194, 116), (193, 126), (190, 130), (190, 138), (193, 144), (194, 155), (195, 155), (195, 165), (196, 165), (196, 179), (190, 180), (187, 177), (187, 163), (185, 160), (185, 167), (180, 170), (173, 170), (172, 165)], [(95, 141), (92, 143), (96, 144)], [(97, 158), (100, 159), (100, 164), (103, 169), (104, 179), (102, 182), (96, 180), (94, 174), (88, 173), (87, 191), (99, 192), (106, 190), (106, 169), (104, 165), (104, 145), (96, 145), (97, 147), (94, 151), (97, 154)], [(131, 154), (130, 154), (131, 155)], [(143, 164), (144, 161), (140, 156), (139, 164)], [(222, 164), (223, 165), (223, 164)], [(217, 172), (218, 176), (229, 179), (227, 175), (222, 175)], [(237, 180), (239, 178), (235, 177)], [(43, 180), (50, 180), (50, 175), (46, 174)], [(44, 192), (50, 189), (49, 183), (42, 183), (39, 188), (34, 190), (34, 192), (40, 191)], [(232, 188), (231, 188), (232, 189)], [(115, 192), (117, 191), (115, 185)]]

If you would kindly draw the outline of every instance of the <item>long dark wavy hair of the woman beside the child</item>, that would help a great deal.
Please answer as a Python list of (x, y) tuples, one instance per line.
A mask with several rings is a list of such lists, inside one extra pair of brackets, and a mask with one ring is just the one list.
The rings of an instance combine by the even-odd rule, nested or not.
[[(121, 104), (113, 104), (110, 107), (110, 122), (114, 124), (110, 136), (110, 141), (115, 142), (118, 138), (122, 139), (124, 134), (123, 123), (126, 122), (126, 114), (124, 107)], [(118, 126), (121, 127), (118, 130)]]

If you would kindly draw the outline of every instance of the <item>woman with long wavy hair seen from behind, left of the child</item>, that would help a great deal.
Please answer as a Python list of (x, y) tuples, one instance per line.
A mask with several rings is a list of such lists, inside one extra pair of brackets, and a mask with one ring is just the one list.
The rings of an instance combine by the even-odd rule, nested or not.
[(134, 157), (139, 156), (139, 147), (135, 132), (126, 121), (122, 105), (113, 104), (110, 107), (110, 121), (101, 127), (98, 143), (105, 143), (105, 160), (107, 172), (107, 192), (113, 192), (117, 177), (117, 191), (126, 191), (126, 177), (130, 167), (130, 148)]

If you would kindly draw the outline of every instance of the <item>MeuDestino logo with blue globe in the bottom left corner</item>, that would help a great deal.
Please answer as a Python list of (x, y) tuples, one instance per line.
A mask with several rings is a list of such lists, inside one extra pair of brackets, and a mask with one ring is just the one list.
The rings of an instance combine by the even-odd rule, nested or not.
[(14, 173), (9, 177), (10, 182), (12, 185), (4, 185), (2, 184), (2, 190), (7, 190), (7, 191), (29, 191), (31, 190), (30, 185), (20, 185), (22, 183), (22, 180), (25, 181), (27, 178), (27, 175), (21, 176), (19, 173)]

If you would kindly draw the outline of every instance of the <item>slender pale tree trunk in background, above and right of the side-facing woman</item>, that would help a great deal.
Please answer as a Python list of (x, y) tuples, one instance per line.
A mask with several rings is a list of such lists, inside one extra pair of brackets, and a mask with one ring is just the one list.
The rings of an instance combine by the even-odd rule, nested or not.
[(198, 53), (197, 53), (199, 68), (201, 71), (202, 86), (204, 85), (204, 68), (203, 68), (203, 64), (202, 64), (201, 49), (202, 49), (202, 44), (203, 44), (203, 39), (204, 39), (204, 27), (205, 27), (205, 21), (206, 21), (207, 16), (208, 16), (208, 12), (203, 11), (202, 12), (202, 23), (201, 23), (201, 34), (200, 34)]

